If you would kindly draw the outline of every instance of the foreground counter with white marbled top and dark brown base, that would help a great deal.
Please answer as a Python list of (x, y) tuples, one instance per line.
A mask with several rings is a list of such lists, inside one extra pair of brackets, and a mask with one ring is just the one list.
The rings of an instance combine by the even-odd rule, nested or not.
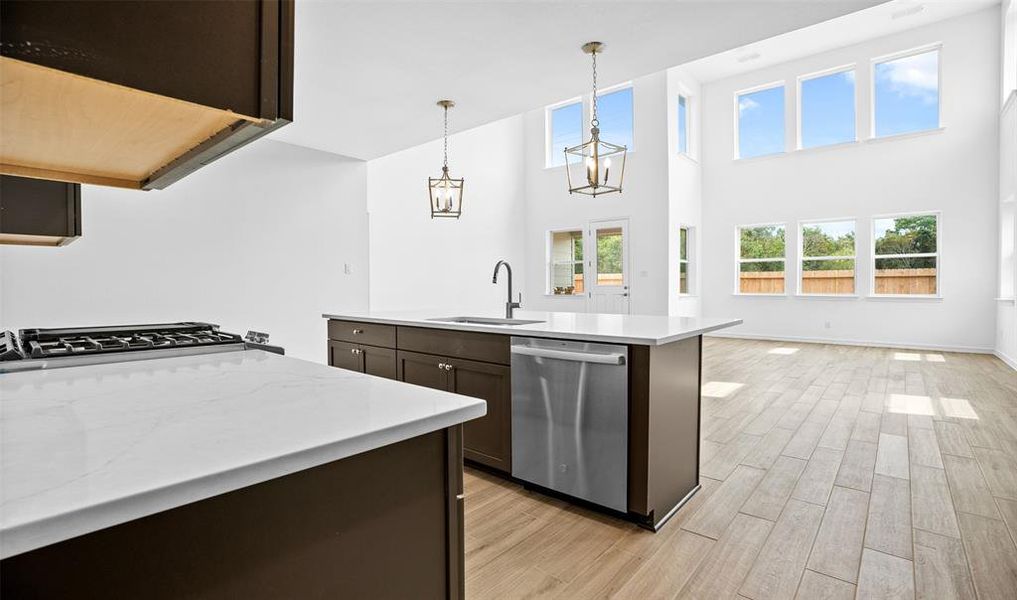
[(259, 350), (0, 374), (0, 595), (460, 598), (484, 413)]

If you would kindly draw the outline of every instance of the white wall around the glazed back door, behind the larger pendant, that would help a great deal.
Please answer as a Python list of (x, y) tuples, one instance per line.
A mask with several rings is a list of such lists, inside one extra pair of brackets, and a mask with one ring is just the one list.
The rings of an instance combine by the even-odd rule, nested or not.
[[(546, 169), (544, 109), (524, 115), (526, 128), (526, 308), (584, 311), (586, 299), (547, 295), (545, 239), (553, 229), (591, 220), (629, 219), (630, 312), (668, 312), (667, 78), (663, 71), (633, 81), (633, 146), (623, 191), (570, 194), (564, 167)], [(589, 127), (584, 119), (584, 128)], [(586, 132), (584, 139), (589, 138)], [(609, 140), (608, 140), (609, 141)]]

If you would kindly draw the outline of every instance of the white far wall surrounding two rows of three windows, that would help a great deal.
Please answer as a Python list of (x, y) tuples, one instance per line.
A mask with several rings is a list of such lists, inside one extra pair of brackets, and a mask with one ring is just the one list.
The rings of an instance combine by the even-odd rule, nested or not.
[[(831, 340), (990, 351), (994, 346), (999, 159), (1000, 10), (983, 11), (811, 56), (703, 87), (703, 310), (737, 316), (735, 336)], [(858, 98), (869, 97), (873, 57), (943, 43), (944, 129), (923, 135), (733, 161), (733, 95), (784, 79), (788, 107), (795, 77), (856, 63)], [(869, 103), (859, 103), (865, 136)], [(794, 139), (793, 109), (787, 139)], [(869, 292), (871, 217), (941, 211), (942, 300), (819, 299), (733, 295), (735, 227), (783, 222), (794, 265), (797, 221), (858, 219), (858, 282)], [(793, 273), (793, 271), (792, 271)], [(826, 326), (829, 323), (829, 327)]]

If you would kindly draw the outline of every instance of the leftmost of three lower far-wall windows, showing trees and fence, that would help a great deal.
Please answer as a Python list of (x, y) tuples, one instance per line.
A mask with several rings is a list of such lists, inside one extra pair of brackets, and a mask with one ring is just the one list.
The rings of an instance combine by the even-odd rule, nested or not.
[(738, 228), (738, 292), (784, 293), (784, 226)]

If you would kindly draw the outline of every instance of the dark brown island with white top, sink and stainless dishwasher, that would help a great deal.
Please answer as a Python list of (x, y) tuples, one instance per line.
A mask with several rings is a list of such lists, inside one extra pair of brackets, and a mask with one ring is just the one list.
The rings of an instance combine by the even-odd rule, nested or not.
[[(741, 322), (523, 310), (511, 320), (490, 311), (322, 316), (328, 364), (487, 401), (487, 415), (464, 426), (467, 461), (654, 530), (700, 487), (702, 337)], [(577, 345), (593, 355), (586, 363), (613, 363), (621, 379), (597, 379), (596, 366), (559, 365), (563, 378), (578, 383), (555, 391), (547, 365), (555, 357), (575, 360), (562, 352)], [(607, 411), (607, 403), (620, 407)], [(535, 423), (539, 418), (545, 422)], [(536, 465), (543, 473), (534, 475), (535, 461), (543, 459), (531, 451), (541, 446), (550, 449), (546, 465)], [(596, 489), (600, 480), (619, 476), (620, 490)]]

